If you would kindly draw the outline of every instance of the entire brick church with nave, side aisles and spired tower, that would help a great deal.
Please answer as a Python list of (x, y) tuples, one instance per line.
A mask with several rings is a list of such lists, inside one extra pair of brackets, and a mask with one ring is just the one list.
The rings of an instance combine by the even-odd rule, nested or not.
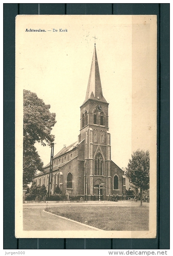
[[(78, 141), (64, 147), (53, 157), (52, 191), (56, 186), (62, 194), (125, 195), (126, 177), (111, 160), (111, 135), (108, 128), (108, 103), (100, 81), (96, 46), (91, 63), (88, 87), (81, 108)], [(50, 163), (37, 174), (37, 185), (48, 190)]]

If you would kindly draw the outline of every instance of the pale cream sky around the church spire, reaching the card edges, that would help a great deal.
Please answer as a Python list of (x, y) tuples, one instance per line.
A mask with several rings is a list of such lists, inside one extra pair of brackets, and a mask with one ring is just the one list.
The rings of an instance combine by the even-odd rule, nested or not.
[[(85, 99), (96, 43), (103, 96), (109, 103), (111, 159), (120, 168), (127, 167), (134, 150), (155, 148), (157, 48), (153, 35), (155, 27), (151, 27), (155, 18), (149, 17), (18, 16), (18, 132), (22, 127), (22, 93), (26, 89), (50, 104), (50, 112), (56, 113), (57, 123), (52, 129), (54, 155), (64, 144), (68, 146), (78, 140), (80, 106)], [(26, 28), (45, 29), (46, 32), (25, 32)], [(59, 32), (59, 29), (67, 29), (67, 32)], [(21, 132), (19, 134), (21, 137)], [(50, 161), (51, 148), (38, 143), (36, 148), (46, 165)]]

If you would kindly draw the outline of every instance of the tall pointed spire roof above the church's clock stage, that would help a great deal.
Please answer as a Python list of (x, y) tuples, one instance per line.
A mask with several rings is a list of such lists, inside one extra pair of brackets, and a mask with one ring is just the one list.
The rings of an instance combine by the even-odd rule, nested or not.
[(88, 99), (106, 102), (105, 98), (103, 97), (102, 89), (101, 89), (100, 73), (99, 73), (97, 53), (96, 53), (96, 44), (94, 47), (94, 53), (92, 57), (91, 70), (90, 70), (90, 76), (89, 76), (85, 101), (87, 101)]

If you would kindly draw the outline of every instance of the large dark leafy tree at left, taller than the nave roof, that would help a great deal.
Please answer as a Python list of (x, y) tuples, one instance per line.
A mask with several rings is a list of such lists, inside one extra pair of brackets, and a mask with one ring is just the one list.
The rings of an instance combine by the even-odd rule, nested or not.
[(40, 142), (43, 146), (51, 145), (54, 135), (52, 127), (56, 123), (55, 113), (50, 113), (50, 105), (37, 97), (36, 93), (23, 90), (23, 184), (33, 181), (37, 170), (43, 171), (34, 144)]

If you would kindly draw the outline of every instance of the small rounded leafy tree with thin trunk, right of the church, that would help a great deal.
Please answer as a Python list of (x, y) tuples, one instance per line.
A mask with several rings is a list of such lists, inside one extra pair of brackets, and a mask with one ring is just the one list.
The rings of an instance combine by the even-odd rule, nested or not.
[(147, 150), (137, 150), (131, 155), (125, 175), (136, 188), (140, 189), (141, 206), (142, 190), (149, 189), (150, 182), (150, 154)]

